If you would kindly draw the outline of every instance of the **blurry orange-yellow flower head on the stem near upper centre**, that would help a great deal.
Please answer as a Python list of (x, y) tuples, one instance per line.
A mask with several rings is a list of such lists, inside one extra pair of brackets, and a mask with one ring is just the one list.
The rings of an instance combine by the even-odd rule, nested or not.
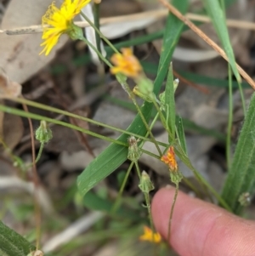
[(139, 77), (143, 71), (131, 48), (122, 48), (122, 54), (113, 54), (111, 62), (115, 65), (111, 68), (112, 74), (122, 73), (134, 78)]

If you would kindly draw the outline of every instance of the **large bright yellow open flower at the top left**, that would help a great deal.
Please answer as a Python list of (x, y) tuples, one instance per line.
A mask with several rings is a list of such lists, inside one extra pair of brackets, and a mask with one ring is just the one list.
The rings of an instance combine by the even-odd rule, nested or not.
[(42, 39), (45, 41), (41, 44), (44, 48), (40, 54), (45, 52), (45, 55), (48, 55), (62, 34), (70, 34), (76, 29), (77, 26), (72, 20), (89, 2), (90, 0), (64, 0), (60, 9), (54, 3), (48, 7), (48, 11), (42, 17), (42, 26), (45, 26)]

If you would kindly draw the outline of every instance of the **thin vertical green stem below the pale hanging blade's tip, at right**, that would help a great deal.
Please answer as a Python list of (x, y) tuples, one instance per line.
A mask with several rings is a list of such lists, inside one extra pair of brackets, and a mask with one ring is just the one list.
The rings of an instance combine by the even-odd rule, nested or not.
[(233, 122), (233, 88), (232, 88), (232, 71), (229, 66), (229, 120), (228, 120), (228, 133), (226, 139), (226, 156), (228, 169), (231, 165), (231, 129)]

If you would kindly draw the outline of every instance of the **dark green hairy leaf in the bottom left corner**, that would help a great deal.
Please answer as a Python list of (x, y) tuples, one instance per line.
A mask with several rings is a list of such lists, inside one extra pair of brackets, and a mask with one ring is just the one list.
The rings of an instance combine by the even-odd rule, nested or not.
[(14, 230), (8, 228), (0, 221), (0, 255), (1, 256), (26, 256), (36, 247), (26, 241)]

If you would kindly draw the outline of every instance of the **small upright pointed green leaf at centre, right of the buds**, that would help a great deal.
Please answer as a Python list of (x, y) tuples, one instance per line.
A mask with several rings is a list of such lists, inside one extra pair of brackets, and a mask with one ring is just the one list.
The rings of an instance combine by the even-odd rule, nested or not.
[[(175, 102), (174, 102), (174, 88), (173, 88), (173, 65), (170, 63), (167, 83), (166, 83), (166, 112), (167, 112), (167, 126), (174, 138), (175, 132)], [(170, 142), (170, 141), (169, 141)]]

